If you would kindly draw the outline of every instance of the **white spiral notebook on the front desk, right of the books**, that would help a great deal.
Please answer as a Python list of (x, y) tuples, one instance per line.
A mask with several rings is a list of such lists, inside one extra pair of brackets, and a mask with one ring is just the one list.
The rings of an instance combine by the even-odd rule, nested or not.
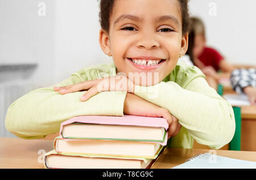
[(256, 169), (256, 162), (204, 153), (172, 169)]

